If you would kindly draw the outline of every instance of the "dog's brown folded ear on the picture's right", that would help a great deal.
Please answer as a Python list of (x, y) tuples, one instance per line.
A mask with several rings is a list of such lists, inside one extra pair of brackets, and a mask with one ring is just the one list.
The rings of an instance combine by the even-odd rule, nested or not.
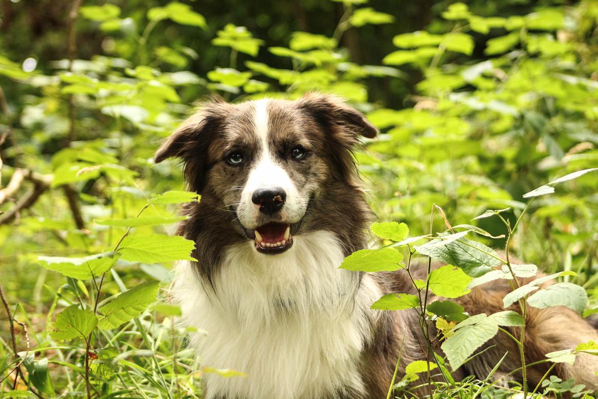
[(374, 138), (379, 133), (378, 128), (368, 121), (364, 114), (338, 97), (308, 93), (298, 100), (298, 105), (319, 123), (325, 126), (335, 125), (345, 132), (352, 133), (353, 139), (357, 136)]

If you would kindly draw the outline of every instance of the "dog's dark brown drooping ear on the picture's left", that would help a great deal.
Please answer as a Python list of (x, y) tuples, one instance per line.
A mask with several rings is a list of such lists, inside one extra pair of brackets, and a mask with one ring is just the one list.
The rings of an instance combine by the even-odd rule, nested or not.
[(221, 127), (224, 112), (222, 102), (205, 103), (200, 111), (191, 115), (154, 154), (154, 163), (176, 157), (184, 163), (185, 182), (188, 188), (201, 194), (209, 169), (208, 148)]

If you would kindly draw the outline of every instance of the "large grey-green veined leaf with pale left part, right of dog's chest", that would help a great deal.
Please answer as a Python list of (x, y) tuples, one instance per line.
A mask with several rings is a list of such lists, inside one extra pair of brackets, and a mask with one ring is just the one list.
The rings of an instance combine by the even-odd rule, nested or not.
[(424, 245), (414, 246), (414, 249), (422, 255), (460, 267), (472, 277), (483, 276), (501, 264), (498, 254), (480, 242), (466, 238), (447, 245), (440, 245), (441, 242), (440, 239), (432, 240)]

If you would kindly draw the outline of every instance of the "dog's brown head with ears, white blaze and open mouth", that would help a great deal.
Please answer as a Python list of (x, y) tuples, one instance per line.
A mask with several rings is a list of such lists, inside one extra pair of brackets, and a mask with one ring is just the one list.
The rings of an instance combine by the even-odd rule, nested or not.
[[(350, 150), (376, 127), (337, 98), (206, 103), (163, 144), (155, 162), (181, 157), (191, 190), (263, 254), (291, 248), (331, 181), (354, 184)], [(337, 199), (342, 201), (343, 199)]]

